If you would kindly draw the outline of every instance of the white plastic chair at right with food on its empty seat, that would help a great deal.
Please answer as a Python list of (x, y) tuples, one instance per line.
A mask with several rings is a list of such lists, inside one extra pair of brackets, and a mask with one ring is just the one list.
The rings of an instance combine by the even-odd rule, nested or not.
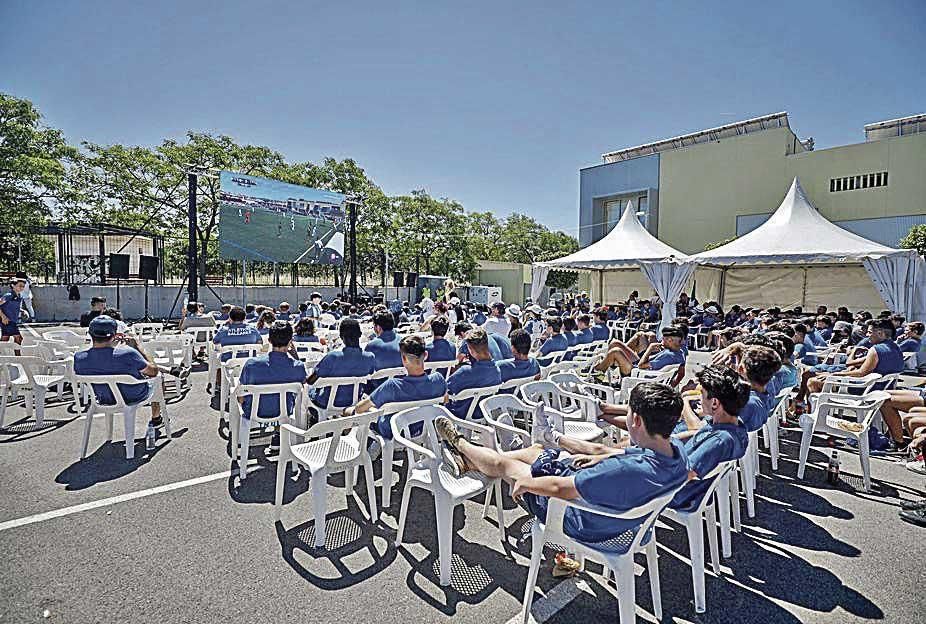
[[(819, 431), (829, 435), (853, 438), (858, 441), (858, 457), (862, 466), (862, 479), (865, 491), (870, 491), (871, 465), (869, 462), (868, 430), (871, 428), (872, 419), (879, 413), (881, 404), (890, 398), (891, 395), (884, 390), (876, 390), (862, 396), (821, 396), (812, 413), (801, 414), (801, 451), (800, 463), (797, 467), (797, 478), (804, 478), (807, 455), (810, 453), (810, 442), (813, 434)], [(851, 424), (847, 426), (847, 423), (852, 423), (852, 421), (840, 418), (839, 415), (855, 416), (855, 426)]]

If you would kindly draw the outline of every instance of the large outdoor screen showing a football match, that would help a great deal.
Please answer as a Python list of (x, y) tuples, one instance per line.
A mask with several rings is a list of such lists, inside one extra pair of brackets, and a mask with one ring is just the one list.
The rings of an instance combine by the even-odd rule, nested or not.
[(222, 171), (219, 255), (229, 260), (343, 264), (341, 193)]

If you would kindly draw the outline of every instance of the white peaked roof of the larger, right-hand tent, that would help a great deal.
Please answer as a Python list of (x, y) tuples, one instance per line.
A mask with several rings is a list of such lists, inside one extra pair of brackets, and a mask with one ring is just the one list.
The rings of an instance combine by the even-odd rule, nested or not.
[(911, 254), (845, 230), (817, 212), (797, 178), (768, 221), (726, 245), (691, 256), (699, 264), (810, 264), (861, 262)]

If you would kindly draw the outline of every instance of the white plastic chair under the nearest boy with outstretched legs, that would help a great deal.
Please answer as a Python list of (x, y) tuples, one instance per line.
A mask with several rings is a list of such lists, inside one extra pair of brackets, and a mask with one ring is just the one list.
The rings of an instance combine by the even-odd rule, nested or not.
[[(681, 487), (681, 486), (680, 486)], [(561, 544), (569, 552), (576, 553), (580, 558), (588, 557), (601, 561), (614, 572), (617, 581), (617, 601), (621, 624), (633, 624), (636, 621), (636, 587), (633, 574), (633, 557), (638, 552), (646, 554), (647, 570), (649, 572), (650, 592), (653, 597), (653, 615), (656, 620), (662, 619), (662, 594), (659, 589), (659, 563), (656, 553), (656, 535), (652, 532), (653, 524), (659, 513), (669, 504), (679, 488), (654, 498), (648, 503), (629, 511), (616, 512), (606, 507), (592, 505), (583, 500), (565, 501), (550, 498), (547, 506), (546, 522), (534, 518), (531, 527), (531, 563), (527, 573), (527, 584), (524, 588), (524, 603), (521, 608), (522, 621), (526, 624), (530, 619), (531, 599), (534, 587), (537, 584), (537, 574), (540, 571), (540, 559), (543, 555), (543, 545), (547, 542)], [(588, 544), (576, 541), (566, 535), (563, 530), (563, 518), (568, 507), (579, 509), (586, 513), (622, 520), (639, 520), (636, 533), (627, 531), (623, 535), (600, 544)], [(649, 541), (643, 540), (649, 536)]]

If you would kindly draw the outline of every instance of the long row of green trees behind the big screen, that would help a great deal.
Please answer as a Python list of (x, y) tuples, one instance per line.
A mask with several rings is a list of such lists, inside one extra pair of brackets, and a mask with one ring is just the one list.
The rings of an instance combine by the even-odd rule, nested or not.
[[(31, 102), (0, 94), (3, 236), (50, 218), (65, 224), (141, 228), (164, 237), (165, 268), (179, 274), (187, 252), (187, 171), (194, 168), (265, 176), (362, 198), (357, 218), (358, 273), (374, 279), (385, 280), (388, 270), (471, 280), (479, 260), (531, 263), (578, 249), (574, 237), (551, 231), (524, 214), (499, 218), (488, 211), (466, 211), (460, 202), (432, 197), (425, 189), (388, 197), (350, 158), (292, 162), (270, 147), (194, 131), (182, 140), (168, 138), (153, 147), (89, 140), (74, 147), (58, 130), (41, 124)], [(203, 274), (221, 274), (226, 269), (218, 254), (219, 180), (200, 175), (197, 183), (201, 268)], [(27, 267), (34, 268), (40, 256), (50, 253), (38, 245), (29, 248), (35, 257), (24, 254)], [(6, 254), (0, 255), (5, 266), (18, 262), (11, 253), (16, 250), (0, 246), (0, 254)], [(552, 272), (548, 283), (565, 287), (574, 279), (574, 274)]]

